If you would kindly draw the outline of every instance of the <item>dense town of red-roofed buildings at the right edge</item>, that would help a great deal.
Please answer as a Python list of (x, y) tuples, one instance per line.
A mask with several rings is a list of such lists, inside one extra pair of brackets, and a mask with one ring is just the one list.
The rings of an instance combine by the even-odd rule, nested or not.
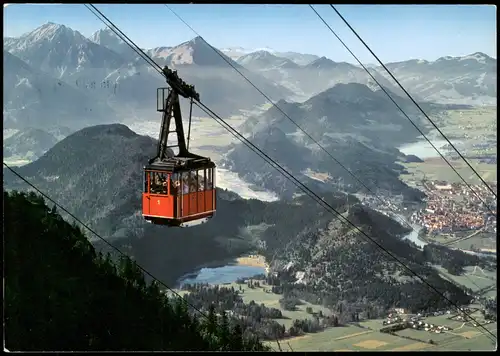
[[(496, 232), (496, 200), (482, 185), (472, 186), (481, 200), (463, 183), (426, 181), (427, 204), (413, 213), (411, 221), (427, 228), (429, 233), (450, 233), (489, 228)], [(496, 190), (496, 184), (492, 186)]]

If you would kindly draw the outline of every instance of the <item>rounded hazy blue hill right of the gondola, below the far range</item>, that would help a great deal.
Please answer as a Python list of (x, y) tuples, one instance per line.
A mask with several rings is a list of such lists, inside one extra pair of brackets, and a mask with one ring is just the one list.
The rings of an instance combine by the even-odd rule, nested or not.
[[(425, 132), (424, 121), (412, 102), (394, 93), (391, 96)], [(429, 114), (457, 108), (429, 103), (422, 106)], [(415, 140), (419, 133), (381, 90), (373, 91), (357, 83), (337, 84), (304, 103), (280, 101), (277, 107), (250, 117), (239, 129), (299, 180), (320, 190), (366, 193), (359, 182), (296, 125), (372, 191), (401, 193), (408, 200), (422, 197), (420, 192), (399, 180), (404, 168), (396, 162), (407, 158), (395, 148)], [(223, 162), (246, 181), (284, 196), (297, 192), (289, 181), (262, 164), (244, 145), (234, 146)], [(318, 176), (323, 179), (318, 180)]]

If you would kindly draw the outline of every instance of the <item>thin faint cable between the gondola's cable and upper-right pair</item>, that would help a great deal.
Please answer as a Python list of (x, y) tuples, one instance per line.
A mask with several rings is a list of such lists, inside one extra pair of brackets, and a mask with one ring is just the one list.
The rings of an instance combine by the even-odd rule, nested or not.
[[(380, 198), (375, 192), (373, 192), (368, 186), (358, 178), (349, 168), (347, 168), (344, 164), (342, 164), (335, 156), (333, 156), (326, 148), (321, 145), (314, 137), (312, 137), (307, 131), (305, 131), (295, 120), (293, 120), (283, 109), (281, 109), (274, 101), (269, 98), (259, 87), (257, 87), (248, 77), (243, 74), (238, 68), (236, 68), (223, 54), (219, 52), (215, 47), (213, 47), (210, 43), (208, 43), (191, 25), (189, 25), (179, 14), (177, 14), (170, 6), (164, 4), (182, 23), (184, 23), (191, 31), (193, 31), (197, 36), (199, 36), (203, 42), (205, 42), (219, 57), (221, 57), (231, 68), (233, 68), (239, 75), (243, 77), (255, 90), (257, 90), (268, 102), (270, 102), (276, 109), (278, 109), (284, 117), (286, 117), (290, 122), (295, 125), (302, 133), (304, 133), (311, 141), (313, 141), (324, 153), (326, 153), (335, 163), (337, 163), (342, 169), (344, 169), (351, 177), (353, 177), (359, 184), (361, 184), (369, 193), (371, 193), (377, 200), (382, 203), (383, 206), (386, 206), (393, 214), (397, 214), (394, 211), (390, 204), (387, 201), (384, 201)], [(400, 219), (398, 219), (400, 220)], [(401, 221), (400, 221), (401, 222)], [(403, 224), (413, 230), (413, 227), (403, 219)]]

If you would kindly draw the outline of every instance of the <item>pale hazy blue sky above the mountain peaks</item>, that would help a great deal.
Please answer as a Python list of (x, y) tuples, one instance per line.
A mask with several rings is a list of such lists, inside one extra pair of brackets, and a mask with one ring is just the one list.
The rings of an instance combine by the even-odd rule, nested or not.
[[(141, 47), (176, 45), (195, 34), (163, 5), (96, 5)], [(307, 5), (170, 5), (212, 45), (270, 47), (354, 62)], [(339, 5), (338, 10), (384, 62), (484, 52), (496, 58), (496, 8), (462, 5)], [(317, 11), (365, 63), (375, 60), (335, 12)], [(4, 36), (46, 22), (90, 36), (104, 25), (81, 4), (4, 7)]]

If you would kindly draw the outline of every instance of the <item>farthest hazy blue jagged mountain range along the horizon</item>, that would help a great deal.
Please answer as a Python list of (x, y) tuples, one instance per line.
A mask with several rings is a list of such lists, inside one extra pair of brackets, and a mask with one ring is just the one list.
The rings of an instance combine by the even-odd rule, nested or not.
[[(90, 97), (97, 106), (112, 107), (120, 120), (137, 120), (150, 114), (155, 107), (155, 88), (166, 85), (161, 76), (109, 29), (99, 30), (86, 38), (67, 26), (47, 23), (20, 37), (4, 38), (4, 51), (18, 59), (10, 57), (4, 70), (16, 73), (15, 78), (4, 80), (4, 98), (9, 99), (4, 100), (4, 112), (8, 112), (7, 121), (10, 122), (26, 120), (30, 115), (24, 111), (33, 110), (30, 105), (12, 101), (13, 98), (23, 103), (35, 101), (29, 92), (31, 89), (18, 85), (23, 78), (29, 79), (34, 71), (48, 76), (50, 79), (47, 82), (59, 81), (60, 85), (72, 87), (66, 90), (68, 93), (65, 95), (76, 95), (71, 94), (75, 92), (73, 89), (81, 89), (77, 93), (86, 92), (82, 96), (83, 101), (87, 100), (85, 97)], [(242, 71), (275, 101), (298, 97), (305, 99), (338, 83), (376, 87), (358, 66), (312, 54), (276, 52), (266, 48), (251, 53), (242, 48), (225, 48), (215, 53), (200, 37), (176, 46), (145, 51), (158, 64), (176, 68), (186, 82), (196, 86), (202, 101), (223, 116), (266, 102), (227, 62)], [(409, 60), (388, 63), (387, 66), (421, 100), (496, 104), (496, 59), (485, 54), (443, 57), (434, 62)], [(19, 72), (20, 67), (29, 68), (25, 69), (29, 73)], [(384, 71), (379, 67), (371, 70), (382, 85), (401, 94)], [(44, 88), (38, 89), (45, 94)], [(49, 109), (52, 105), (50, 98), (36, 100), (41, 107), (47, 107), (45, 110), (53, 110)], [(71, 98), (66, 98), (64, 102), (70, 106), (79, 105)], [(113, 117), (109, 111), (101, 113), (100, 109), (92, 110), (93, 116)], [(52, 120), (57, 120), (62, 114), (51, 116)], [(64, 116), (67, 120), (68, 115)], [(90, 116), (87, 115), (91, 121)], [(83, 123), (87, 120), (79, 118), (75, 121)], [(29, 126), (33, 125), (30, 123)]]

